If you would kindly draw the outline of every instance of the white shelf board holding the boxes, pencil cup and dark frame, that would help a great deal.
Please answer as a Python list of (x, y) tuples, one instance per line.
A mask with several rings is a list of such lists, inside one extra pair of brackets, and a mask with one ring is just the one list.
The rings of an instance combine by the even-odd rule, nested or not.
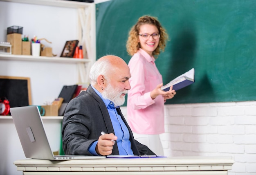
[(64, 57), (47, 57), (47, 56), (31, 56), (31, 55), (7, 55), (0, 54), (0, 60), (7, 61), (38, 61), (38, 62), (55, 62), (55, 63), (89, 63), (88, 58), (64, 58)]

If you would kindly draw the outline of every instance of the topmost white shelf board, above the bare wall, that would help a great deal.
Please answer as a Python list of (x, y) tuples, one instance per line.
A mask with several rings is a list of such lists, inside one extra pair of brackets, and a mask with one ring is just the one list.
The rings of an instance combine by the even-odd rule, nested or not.
[(67, 8), (85, 8), (94, 5), (90, 2), (77, 2), (70, 0), (0, 0), (5, 2), (17, 2), (25, 4), (47, 5), (55, 7), (67, 7)]

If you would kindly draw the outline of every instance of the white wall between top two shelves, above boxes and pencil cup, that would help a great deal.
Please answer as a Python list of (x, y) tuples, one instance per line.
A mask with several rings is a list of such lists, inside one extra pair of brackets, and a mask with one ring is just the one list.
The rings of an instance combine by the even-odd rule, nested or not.
[(67, 40), (78, 39), (78, 14), (76, 9), (32, 5), (14, 2), (0, 2), (0, 41), (7, 39), (7, 27), (23, 27), (23, 34), (29, 39), (35, 35), (46, 38), (52, 44), (53, 54), (61, 55)]

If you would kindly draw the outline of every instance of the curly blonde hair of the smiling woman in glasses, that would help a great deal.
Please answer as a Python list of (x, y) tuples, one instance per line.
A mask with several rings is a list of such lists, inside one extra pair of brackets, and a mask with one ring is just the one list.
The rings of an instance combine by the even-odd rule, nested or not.
[(168, 40), (168, 34), (166, 33), (166, 30), (161, 26), (157, 18), (152, 16), (147, 16), (147, 15), (141, 16), (138, 19), (137, 23), (134, 26), (132, 26), (129, 32), (127, 43), (126, 43), (127, 52), (130, 56), (133, 56), (141, 47), (140, 43), (138, 43), (139, 30), (141, 25), (145, 25), (145, 24), (155, 25), (159, 31), (159, 34), (160, 34), (159, 44), (157, 48), (153, 51), (153, 56), (157, 58), (157, 55), (160, 54), (160, 51), (164, 52), (164, 48)]

